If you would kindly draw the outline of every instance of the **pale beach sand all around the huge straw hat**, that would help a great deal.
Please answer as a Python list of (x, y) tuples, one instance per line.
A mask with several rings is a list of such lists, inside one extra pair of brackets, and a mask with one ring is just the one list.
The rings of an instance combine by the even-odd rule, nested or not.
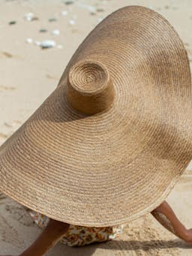
[[(69, 59), (86, 35), (112, 11), (126, 5), (143, 5), (166, 17), (184, 41), (191, 65), (190, 0), (77, 0), (71, 5), (65, 5), (64, 1), (46, 1), (45, 4), (43, 0), (0, 0), (0, 144), (16, 131), (55, 89)], [(62, 13), (64, 11), (68, 11), (66, 16)], [(24, 16), (28, 13), (34, 14), (34, 20), (25, 19)], [(15, 24), (10, 25), (10, 22)], [(40, 29), (46, 29), (47, 32), (40, 32)], [(58, 29), (60, 35), (52, 35), (54, 29)], [(54, 40), (56, 45), (42, 50), (36, 44), (43, 40)], [(32, 42), (29, 43), (30, 41)], [(191, 170), (192, 164), (189, 164), (167, 198), (178, 218), (187, 227), (192, 226)], [(40, 228), (31, 221), (23, 206), (3, 194), (0, 194), (0, 227), (0, 254), (20, 253), (40, 233)], [(48, 255), (191, 253), (191, 245), (177, 239), (148, 214), (127, 224), (119, 239), (83, 248), (58, 244)]]

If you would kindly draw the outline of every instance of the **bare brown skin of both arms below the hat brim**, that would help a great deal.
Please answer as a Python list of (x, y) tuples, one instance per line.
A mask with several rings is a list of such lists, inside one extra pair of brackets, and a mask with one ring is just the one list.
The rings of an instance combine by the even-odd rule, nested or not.
[[(187, 229), (176, 217), (172, 208), (166, 201), (151, 212), (151, 215), (160, 222), (167, 230), (174, 233), (185, 242), (192, 243), (192, 229)], [(50, 219), (43, 232), (34, 243), (18, 256), (43, 256), (49, 249), (53, 248), (62, 236), (67, 232), (70, 224)], [(13, 256), (13, 255), (0, 255)]]

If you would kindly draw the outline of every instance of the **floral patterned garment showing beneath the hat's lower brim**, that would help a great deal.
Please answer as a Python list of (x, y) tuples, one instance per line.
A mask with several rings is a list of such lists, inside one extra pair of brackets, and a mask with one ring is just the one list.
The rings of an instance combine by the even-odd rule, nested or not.
[[(39, 212), (28, 209), (28, 213), (40, 228), (46, 227), (49, 222), (49, 218)], [(69, 246), (82, 246), (89, 245), (92, 242), (109, 241), (119, 237), (123, 227), (124, 224), (113, 227), (83, 227), (70, 224), (67, 233), (62, 236), (60, 242)]]

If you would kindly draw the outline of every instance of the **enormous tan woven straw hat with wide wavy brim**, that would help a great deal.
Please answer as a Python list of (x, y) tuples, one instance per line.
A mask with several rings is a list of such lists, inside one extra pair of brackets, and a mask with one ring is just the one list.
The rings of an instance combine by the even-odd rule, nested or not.
[(50, 218), (104, 227), (150, 212), (192, 158), (187, 53), (148, 8), (103, 20), (0, 148), (0, 188)]

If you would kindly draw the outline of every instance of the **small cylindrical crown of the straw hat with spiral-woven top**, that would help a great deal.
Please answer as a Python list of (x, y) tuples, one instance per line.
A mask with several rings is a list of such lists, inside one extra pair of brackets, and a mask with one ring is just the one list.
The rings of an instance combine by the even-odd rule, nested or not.
[(95, 60), (77, 62), (70, 69), (66, 94), (75, 110), (88, 115), (109, 110), (115, 96), (106, 66)]

